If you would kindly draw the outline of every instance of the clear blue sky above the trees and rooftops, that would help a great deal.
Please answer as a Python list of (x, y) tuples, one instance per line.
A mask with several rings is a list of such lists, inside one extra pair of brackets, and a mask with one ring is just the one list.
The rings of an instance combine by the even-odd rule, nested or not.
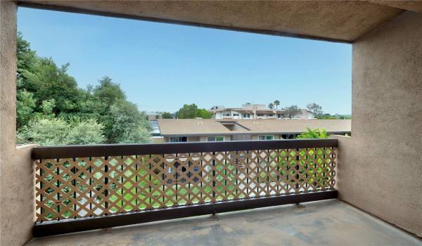
[(352, 46), (245, 32), (19, 8), (18, 30), (80, 87), (107, 75), (140, 110), (184, 103), (318, 103), (350, 114)]

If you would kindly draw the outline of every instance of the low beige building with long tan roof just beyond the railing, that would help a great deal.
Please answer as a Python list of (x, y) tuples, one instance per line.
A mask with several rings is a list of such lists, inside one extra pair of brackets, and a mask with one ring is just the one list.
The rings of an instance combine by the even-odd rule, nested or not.
[(158, 119), (158, 128), (164, 142), (290, 139), (307, 128), (351, 134), (350, 119)]

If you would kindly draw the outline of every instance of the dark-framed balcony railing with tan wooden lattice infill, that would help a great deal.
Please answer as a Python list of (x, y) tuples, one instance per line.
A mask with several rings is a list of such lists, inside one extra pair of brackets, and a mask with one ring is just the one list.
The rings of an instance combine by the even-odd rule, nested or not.
[(337, 197), (336, 139), (34, 148), (34, 236)]

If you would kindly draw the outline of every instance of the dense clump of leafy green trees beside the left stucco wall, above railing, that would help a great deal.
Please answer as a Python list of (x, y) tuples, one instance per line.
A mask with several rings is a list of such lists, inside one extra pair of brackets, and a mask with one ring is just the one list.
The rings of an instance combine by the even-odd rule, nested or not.
[(145, 114), (127, 101), (120, 84), (103, 77), (97, 86), (79, 89), (68, 74), (69, 64), (58, 66), (51, 58), (38, 57), (21, 34), (17, 44), (20, 137), (42, 144), (149, 141)]

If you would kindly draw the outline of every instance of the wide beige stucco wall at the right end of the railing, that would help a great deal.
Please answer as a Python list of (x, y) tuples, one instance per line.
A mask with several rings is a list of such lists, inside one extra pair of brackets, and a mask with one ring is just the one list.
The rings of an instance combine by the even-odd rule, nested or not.
[(340, 138), (340, 199), (422, 237), (422, 13), (353, 44), (352, 138)]

